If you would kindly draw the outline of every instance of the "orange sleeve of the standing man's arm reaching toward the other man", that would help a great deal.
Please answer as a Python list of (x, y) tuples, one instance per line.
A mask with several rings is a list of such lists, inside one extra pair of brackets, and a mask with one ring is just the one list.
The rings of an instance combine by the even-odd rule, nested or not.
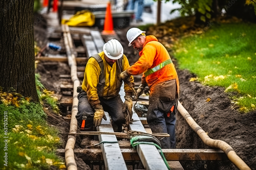
[(143, 47), (141, 57), (136, 63), (134, 63), (127, 73), (129, 75), (139, 75), (145, 72), (148, 68), (153, 65), (154, 58), (156, 56), (156, 47), (150, 42)]

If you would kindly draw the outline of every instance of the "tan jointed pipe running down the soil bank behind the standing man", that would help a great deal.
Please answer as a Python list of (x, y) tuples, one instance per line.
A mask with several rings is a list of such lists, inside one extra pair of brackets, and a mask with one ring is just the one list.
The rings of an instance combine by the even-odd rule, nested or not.
[(202, 139), (204, 144), (207, 146), (221, 149), (226, 153), (228, 159), (236, 165), (240, 170), (250, 170), (251, 168), (236, 154), (233, 148), (228, 145), (226, 142), (222, 140), (214, 140), (211, 139), (205, 131), (194, 121), (194, 119), (190, 116), (188, 111), (182, 106), (182, 104), (178, 101), (178, 111), (186, 120), (188, 125), (197, 133), (197, 135)]

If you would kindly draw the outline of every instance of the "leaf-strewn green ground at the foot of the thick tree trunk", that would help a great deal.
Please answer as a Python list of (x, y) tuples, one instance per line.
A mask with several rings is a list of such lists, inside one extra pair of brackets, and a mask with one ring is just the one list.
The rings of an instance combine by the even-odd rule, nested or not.
[[(45, 99), (51, 98), (42, 92), (44, 87), (38, 75), (36, 75), (36, 84), (39, 96), (43, 94), (48, 96)], [(50, 169), (50, 166), (65, 168), (64, 160), (56, 155), (57, 146), (60, 144), (59, 132), (47, 124), (47, 115), (41, 103), (29, 102), (28, 98), (16, 95), (0, 90), (0, 137), (2, 139), (0, 150), (8, 153), (8, 166), (4, 166), (4, 154), (2, 154), (0, 169), (41, 170)], [(42, 99), (42, 97), (39, 98)], [(4, 119), (4, 113), (7, 113), (7, 120)], [(7, 135), (4, 134), (5, 130)], [(4, 151), (4, 139), (8, 140), (7, 151)]]

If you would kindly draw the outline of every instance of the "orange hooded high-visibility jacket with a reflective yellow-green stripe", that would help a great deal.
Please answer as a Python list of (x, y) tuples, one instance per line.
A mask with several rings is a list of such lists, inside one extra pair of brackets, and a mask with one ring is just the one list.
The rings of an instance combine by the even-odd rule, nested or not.
[(156, 84), (176, 79), (177, 93), (179, 93), (179, 79), (174, 64), (168, 51), (155, 36), (146, 36), (146, 42), (139, 54), (138, 61), (127, 69), (129, 75), (143, 73), (142, 81), (146, 80), (150, 90)]

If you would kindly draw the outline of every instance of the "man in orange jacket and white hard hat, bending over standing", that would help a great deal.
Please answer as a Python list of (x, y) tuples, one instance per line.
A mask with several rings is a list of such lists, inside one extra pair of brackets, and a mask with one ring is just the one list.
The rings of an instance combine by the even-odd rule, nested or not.
[[(146, 36), (145, 31), (131, 28), (126, 37), (128, 46), (139, 51), (140, 58), (130, 68), (120, 74), (122, 80), (131, 75), (143, 73), (142, 83), (137, 96), (143, 93), (145, 86), (150, 88), (147, 122), (153, 133), (168, 133), (170, 138), (161, 141), (163, 148), (175, 148), (175, 113), (179, 93), (179, 79), (165, 47), (153, 35)], [(137, 100), (137, 99), (135, 99)]]

